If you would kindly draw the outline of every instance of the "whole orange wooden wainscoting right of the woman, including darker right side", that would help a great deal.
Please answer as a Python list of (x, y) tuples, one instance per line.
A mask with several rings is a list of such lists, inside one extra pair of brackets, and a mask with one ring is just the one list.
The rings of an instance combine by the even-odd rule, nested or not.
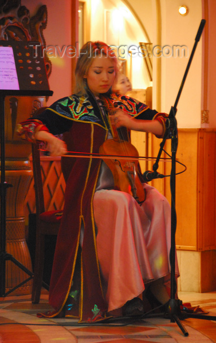
[[(146, 156), (157, 157), (162, 140), (148, 134), (146, 141), (144, 135), (133, 133), (133, 144), (140, 154), (146, 150)], [(165, 150), (171, 154), (170, 140)], [(162, 152), (161, 157), (166, 156)], [(178, 129), (176, 161), (187, 166), (186, 172), (176, 175), (176, 247), (193, 251), (216, 249), (216, 129)], [(155, 159), (150, 158), (142, 162), (142, 172), (152, 171), (154, 163)], [(176, 163), (176, 173), (183, 170), (184, 167)], [(160, 159), (157, 171), (169, 175), (171, 162)], [(171, 204), (169, 183), (170, 177), (149, 182)]]

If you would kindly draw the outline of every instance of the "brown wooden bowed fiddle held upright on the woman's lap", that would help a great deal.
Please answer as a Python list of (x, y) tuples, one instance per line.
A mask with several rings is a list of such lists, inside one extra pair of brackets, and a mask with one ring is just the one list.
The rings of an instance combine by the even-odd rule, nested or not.
[[(109, 116), (114, 116), (116, 111), (111, 100), (106, 97), (102, 97), (101, 100), (104, 103), (106, 112), (108, 112), (108, 121), (113, 139), (107, 139), (100, 146), (99, 153), (101, 155), (124, 156), (122, 159), (118, 157), (103, 157), (102, 159), (113, 174), (115, 189), (132, 195), (136, 201), (141, 204), (145, 199), (145, 192), (139, 178), (139, 152), (136, 147), (125, 139), (122, 128), (117, 129), (114, 121), (110, 120)], [(129, 139), (127, 129), (126, 133), (127, 138)], [(130, 158), (127, 158), (127, 156), (130, 156)], [(131, 156), (134, 156), (134, 159), (131, 159)]]

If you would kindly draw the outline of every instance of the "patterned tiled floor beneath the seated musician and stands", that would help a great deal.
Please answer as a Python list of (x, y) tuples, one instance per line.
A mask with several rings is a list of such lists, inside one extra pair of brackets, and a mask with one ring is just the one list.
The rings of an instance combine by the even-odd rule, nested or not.
[[(200, 305), (216, 316), (216, 292), (179, 292), (183, 302)], [(163, 317), (144, 318), (127, 322), (81, 325), (71, 319), (39, 319), (38, 311), (47, 311), (48, 294), (41, 296), (40, 304), (32, 304), (29, 295), (0, 298), (0, 343), (144, 343), (144, 342), (216, 342), (216, 321), (207, 319), (181, 319), (189, 333), (185, 337), (176, 322)], [(205, 315), (208, 318), (208, 315)]]

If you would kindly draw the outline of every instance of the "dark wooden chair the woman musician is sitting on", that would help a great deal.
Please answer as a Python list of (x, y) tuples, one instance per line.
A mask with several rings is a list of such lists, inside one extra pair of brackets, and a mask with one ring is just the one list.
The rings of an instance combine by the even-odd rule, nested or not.
[(58, 234), (62, 210), (45, 211), (40, 151), (37, 143), (32, 144), (32, 165), (36, 200), (36, 245), (31, 301), (37, 304), (40, 301), (42, 285), (49, 289), (49, 286), (43, 282), (45, 235)]

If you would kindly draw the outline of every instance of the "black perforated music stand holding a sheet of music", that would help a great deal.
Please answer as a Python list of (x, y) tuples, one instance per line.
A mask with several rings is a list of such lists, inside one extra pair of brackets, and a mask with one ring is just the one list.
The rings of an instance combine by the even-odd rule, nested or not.
[[(7, 296), (24, 283), (33, 273), (11, 254), (6, 252), (6, 191), (13, 185), (5, 182), (5, 123), (4, 99), (6, 96), (48, 97), (49, 90), (43, 57), (33, 55), (35, 42), (0, 41), (0, 296)], [(40, 43), (37, 43), (39, 46)], [(5, 263), (12, 261), (30, 277), (5, 293)]]

